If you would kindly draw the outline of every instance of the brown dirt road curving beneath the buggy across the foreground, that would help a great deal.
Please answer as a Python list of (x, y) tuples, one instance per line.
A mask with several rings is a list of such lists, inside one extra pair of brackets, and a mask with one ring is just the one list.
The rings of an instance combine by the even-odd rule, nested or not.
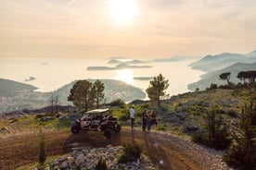
[[(207, 169), (195, 155), (197, 151), (186, 147), (185, 140), (173, 138), (165, 133), (145, 133), (140, 129), (123, 128), (120, 134), (106, 140), (100, 132), (73, 135), (70, 132), (54, 131), (45, 133), (45, 142), (48, 155), (70, 152), (72, 147), (106, 147), (109, 144), (136, 142), (143, 146), (143, 151), (160, 169)], [(13, 169), (37, 161), (36, 135), (0, 139), (0, 143), (0, 169)]]

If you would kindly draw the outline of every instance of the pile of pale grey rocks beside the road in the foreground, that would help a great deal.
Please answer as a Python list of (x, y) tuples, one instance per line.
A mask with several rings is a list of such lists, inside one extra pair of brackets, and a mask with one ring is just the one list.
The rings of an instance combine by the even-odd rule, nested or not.
[(50, 163), (49, 169), (88, 169), (94, 170), (100, 158), (106, 160), (109, 170), (153, 170), (157, 167), (152, 164), (146, 155), (142, 155), (136, 162), (119, 164), (118, 158), (123, 152), (122, 146), (108, 145), (106, 148), (73, 148), (73, 152), (60, 156)]

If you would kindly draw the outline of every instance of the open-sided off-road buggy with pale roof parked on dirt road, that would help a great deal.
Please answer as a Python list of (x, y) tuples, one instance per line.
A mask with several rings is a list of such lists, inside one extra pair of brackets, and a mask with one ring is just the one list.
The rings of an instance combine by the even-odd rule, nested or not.
[(113, 133), (120, 132), (121, 126), (117, 123), (117, 118), (113, 117), (109, 109), (96, 109), (83, 114), (76, 120), (71, 132), (77, 134), (80, 131), (103, 131), (105, 137), (109, 140)]

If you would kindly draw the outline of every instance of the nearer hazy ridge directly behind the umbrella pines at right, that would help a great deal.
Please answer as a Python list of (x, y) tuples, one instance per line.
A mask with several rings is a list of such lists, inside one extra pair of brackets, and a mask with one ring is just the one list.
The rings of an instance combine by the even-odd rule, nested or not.
[(225, 67), (220, 70), (211, 71), (209, 73), (206, 73), (202, 76), (200, 76), (200, 80), (197, 82), (191, 83), (187, 86), (187, 88), (190, 91), (195, 91), (197, 88), (199, 90), (205, 90), (206, 88), (210, 87), (211, 83), (215, 83), (218, 85), (224, 85), (226, 84), (226, 81), (220, 80), (219, 76), (224, 72), (231, 72), (230, 74), (230, 81), (231, 82), (240, 82), (239, 79), (237, 79), (237, 73), (240, 71), (248, 71), (248, 70), (255, 70), (256, 69), (256, 62), (252, 64), (246, 64), (246, 63), (237, 63), (230, 67)]

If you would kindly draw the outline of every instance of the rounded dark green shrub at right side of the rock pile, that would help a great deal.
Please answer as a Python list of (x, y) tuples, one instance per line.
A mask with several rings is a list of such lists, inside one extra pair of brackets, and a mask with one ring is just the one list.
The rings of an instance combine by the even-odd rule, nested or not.
[(142, 153), (142, 146), (134, 144), (124, 144), (123, 154), (119, 158), (119, 163), (126, 164), (137, 161), (140, 159), (140, 154)]

